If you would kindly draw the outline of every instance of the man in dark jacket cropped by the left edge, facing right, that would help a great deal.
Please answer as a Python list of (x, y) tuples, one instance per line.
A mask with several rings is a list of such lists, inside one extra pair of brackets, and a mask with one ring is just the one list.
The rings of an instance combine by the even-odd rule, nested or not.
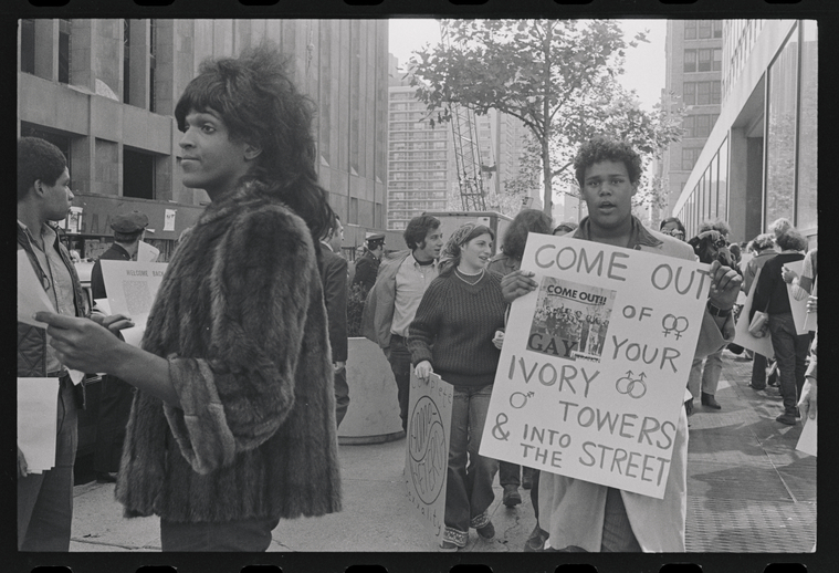
[[(51, 225), (66, 217), (72, 200), (67, 160), (61, 150), (38, 137), (18, 139), (18, 251), (25, 253), (56, 315), (93, 324), (86, 320), (90, 309), (70, 253)], [(128, 324), (120, 315), (105, 317), (96, 313), (92, 317), (114, 332)], [(18, 448), (19, 551), (70, 550), (76, 420), (77, 410), (84, 408), (85, 388), (84, 382), (74, 385), (67, 371), (70, 364), (46, 341), (43, 326), (18, 322), (18, 378), (55, 378), (59, 388), (52, 469), (30, 472)]]

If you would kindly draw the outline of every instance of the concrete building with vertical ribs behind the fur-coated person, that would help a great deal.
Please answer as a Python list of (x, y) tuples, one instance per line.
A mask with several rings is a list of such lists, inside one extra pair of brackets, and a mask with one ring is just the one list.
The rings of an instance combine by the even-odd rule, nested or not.
[[(318, 175), (344, 221), (345, 248), (385, 228), (387, 20), (28, 19), (18, 32), (18, 135), (67, 156), (71, 243), (95, 258), (109, 219), (150, 219), (164, 259), (209, 198), (180, 181), (178, 97), (206, 58), (269, 39), (317, 104)], [(396, 240), (396, 238), (394, 238)], [(395, 247), (401, 240), (399, 237)]]

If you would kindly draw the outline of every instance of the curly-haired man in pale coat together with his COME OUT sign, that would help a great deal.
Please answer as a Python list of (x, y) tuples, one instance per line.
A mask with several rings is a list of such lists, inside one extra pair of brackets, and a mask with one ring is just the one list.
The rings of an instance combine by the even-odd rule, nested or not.
[[(683, 552), (694, 357), (733, 337), (741, 278), (632, 216), (642, 171), (594, 138), (574, 169), (588, 216), (528, 238), (482, 454), (544, 469), (538, 525), (559, 551)], [(534, 292), (535, 291), (535, 292)]]

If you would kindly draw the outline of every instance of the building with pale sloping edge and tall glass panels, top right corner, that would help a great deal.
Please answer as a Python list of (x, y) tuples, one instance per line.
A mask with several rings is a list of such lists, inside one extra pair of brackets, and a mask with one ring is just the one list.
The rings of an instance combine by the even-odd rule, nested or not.
[(726, 219), (733, 241), (788, 218), (818, 238), (815, 20), (725, 20), (722, 104), (673, 212), (688, 235)]

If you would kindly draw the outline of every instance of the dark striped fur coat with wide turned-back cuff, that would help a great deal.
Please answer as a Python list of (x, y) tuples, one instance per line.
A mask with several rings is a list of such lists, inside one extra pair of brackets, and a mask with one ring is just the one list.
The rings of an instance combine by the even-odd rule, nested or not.
[(180, 408), (137, 392), (116, 498), (126, 517), (340, 510), (333, 369), (315, 246), (259, 184), (212, 202), (178, 247), (143, 348)]

